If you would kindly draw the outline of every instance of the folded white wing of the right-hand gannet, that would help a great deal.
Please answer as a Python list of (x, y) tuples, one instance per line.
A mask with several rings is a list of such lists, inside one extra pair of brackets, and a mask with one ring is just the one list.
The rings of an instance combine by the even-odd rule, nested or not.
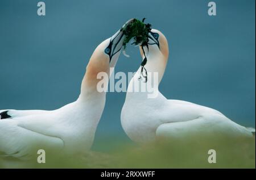
[(156, 129), (158, 137), (172, 137), (172, 139), (216, 139), (223, 137), (253, 137), (253, 134), (245, 127), (232, 122), (225, 116), (212, 114), (199, 118), (163, 123)]

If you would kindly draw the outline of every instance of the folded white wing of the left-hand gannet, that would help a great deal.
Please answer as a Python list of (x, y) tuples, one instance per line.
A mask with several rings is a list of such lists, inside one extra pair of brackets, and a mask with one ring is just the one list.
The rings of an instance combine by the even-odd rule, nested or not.
[[(30, 117), (27, 116), (29, 119)], [(29, 157), (42, 148), (61, 149), (63, 140), (20, 127), (19, 118), (0, 120), (0, 154), (17, 158)]]

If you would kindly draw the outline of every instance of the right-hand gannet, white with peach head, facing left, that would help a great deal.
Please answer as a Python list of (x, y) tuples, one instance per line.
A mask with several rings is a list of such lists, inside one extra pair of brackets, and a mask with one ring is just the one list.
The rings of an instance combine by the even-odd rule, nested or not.
[[(144, 53), (143, 53), (144, 50)], [(253, 137), (255, 129), (245, 128), (227, 118), (221, 112), (199, 104), (167, 99), (158, 90), (168, 60), (168, 42), (162, 32), (151, 30), (148, 34), (148, 48), (140, 47), (142, 58), (147, 57), (144, 68), (149, 73), (158, 73), (158, 83), (154, 86), (155, 98), (148, 96), (151, 91), (135, 91), (143, 83), (153, 84), (153, 76), (147, 82), (142, 79), (142, 69), (129, 82), (125, 103), (121, 111), (121, 124), (127, 136), (136, 143), (148, 143), (159, 138), (187, 139), (199, 135), (200, 138)]]

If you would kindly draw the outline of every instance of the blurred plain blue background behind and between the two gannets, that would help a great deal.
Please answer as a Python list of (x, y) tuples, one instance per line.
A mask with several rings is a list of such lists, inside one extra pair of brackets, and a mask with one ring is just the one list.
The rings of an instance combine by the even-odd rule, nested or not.
[[(170, 58), (160, 91), (169, 99), (215, 108), (255, 127), (255, 1), (0, 1), (0, 109), (54, 110), (76, 100), (92, 52), (130, 18), (147, 18), (166, 35)], [(135, 72), (138, 48), (128, 47), (115, 72)], [(108, 93), (96, 132), (121, 137), (125, 93)]]

